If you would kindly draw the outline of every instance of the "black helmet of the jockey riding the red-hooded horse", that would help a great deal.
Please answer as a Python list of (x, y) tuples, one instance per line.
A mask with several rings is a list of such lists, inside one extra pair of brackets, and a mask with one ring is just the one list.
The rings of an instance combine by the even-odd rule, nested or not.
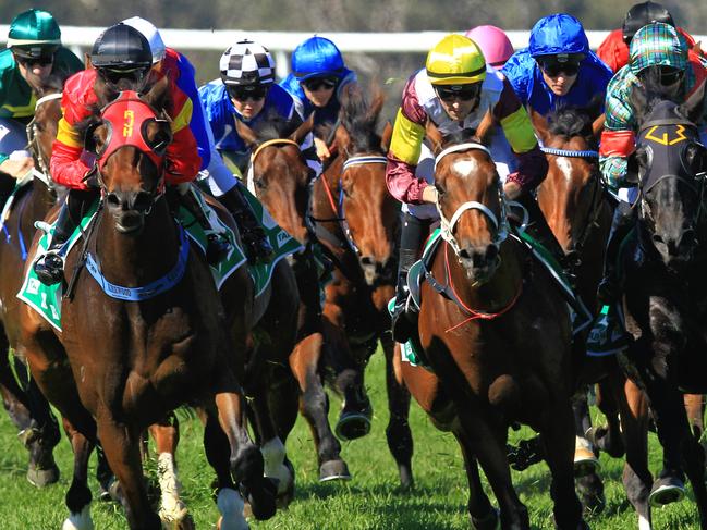
[(142, 33), (120, 23), (110, 26), (96, 39), (90, 62), (97, 69), (149, 69), (153, 65), (153, 51)]

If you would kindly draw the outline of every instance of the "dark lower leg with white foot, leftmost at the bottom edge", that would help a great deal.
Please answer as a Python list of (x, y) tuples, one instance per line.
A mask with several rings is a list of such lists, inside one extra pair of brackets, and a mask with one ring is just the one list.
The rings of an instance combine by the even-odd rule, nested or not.
[(74, 474), (65, 502), (70, 516), (64, 520), (62, 530), (93, 530), (90, 518), (90, 490), (88, 489), (88, 457), (94, 443), (78, 432), (71, 422), (63, 418), (64, 430), (74, 452)]

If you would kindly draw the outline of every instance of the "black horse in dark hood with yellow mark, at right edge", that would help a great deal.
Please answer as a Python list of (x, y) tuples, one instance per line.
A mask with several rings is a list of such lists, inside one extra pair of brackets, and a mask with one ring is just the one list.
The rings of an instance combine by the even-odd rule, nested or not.
[(623, 263), (623, 310), (633, 341), (622, 359), (648, 395), (663, 447), (656, 481), (647, 473), (636, 486), (651, 505), (667, 504), (684, 495), (686, 473), (703, 529), (705, 455), (691, 434), (681, 393), (707, 392), (707, 149), (695, 125), (704, 97), (704, 84), (683, 104), (648, 88), (631, 97), (639, 126), (629, 175), (638, 198), (635, 237)]

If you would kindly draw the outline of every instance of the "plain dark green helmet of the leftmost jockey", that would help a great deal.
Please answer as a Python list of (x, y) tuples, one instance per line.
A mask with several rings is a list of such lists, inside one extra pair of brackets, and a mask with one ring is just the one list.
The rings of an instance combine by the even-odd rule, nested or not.
[(61, 45), (61, 30), (49, 11), (29, 9), (10, 24), (8, 48), (28, 59), (51, 54)]

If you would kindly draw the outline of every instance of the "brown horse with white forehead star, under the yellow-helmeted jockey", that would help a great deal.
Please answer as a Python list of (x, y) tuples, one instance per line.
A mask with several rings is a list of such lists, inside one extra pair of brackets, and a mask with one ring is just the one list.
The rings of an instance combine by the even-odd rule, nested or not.
[(573, 488), (566, 305), (549, 271), (509, 235), (502, 186), (484, 146), (443, 149), (435, 175), (444, 241), (428, 268), (434, 283), (422, 286), (416, 341), (434, 374), (400, 362), (403, 380), (435, 423), (460, 443), (475, 528), (496, 528), (499, 517), (482, 488), (477, 459), (502, 528), (529, 528), (505, 454), (513, 422), (541, 433), (554, 523), (586, 528)]

